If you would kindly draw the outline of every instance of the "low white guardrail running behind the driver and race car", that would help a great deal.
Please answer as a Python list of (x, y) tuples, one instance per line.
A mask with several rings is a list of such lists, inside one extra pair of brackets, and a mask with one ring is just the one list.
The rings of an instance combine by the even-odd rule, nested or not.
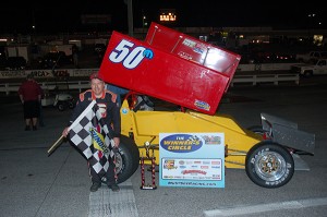
[[(272, 83), (278, 85), (284, 82), (294, 82), (299, 85), (299, 74), (261, 74), (261, 75), (234, 75), (231, 81), (231, 86), (235, 83), (243, 83), (250, 85), (257, 85), (258, 83)], [(89, 81), (72, 81), (72, 82), (40, 82), (43, 89), (48, 91), (64, 91), (77, 89), (80, 93), (84, 89), (90, 88)], [(21, 83), (4, 83), (0, 84), (0, 92), (9, 95), (10, 93), (17, 92)]]

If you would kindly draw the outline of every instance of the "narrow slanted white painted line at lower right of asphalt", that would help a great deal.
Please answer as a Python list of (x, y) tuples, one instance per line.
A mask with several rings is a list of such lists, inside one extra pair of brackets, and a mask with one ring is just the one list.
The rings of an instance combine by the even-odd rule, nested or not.
[(204, 216), (206, 217), (239, 216), (239, 215), (242, 216), (242, 215), (258, 214), (258, 213), (271, 212), (271, 210), (296, 209), (296, 208), (325, 206), (325, 205), (327, 205), (327, 197), (205, 210)]

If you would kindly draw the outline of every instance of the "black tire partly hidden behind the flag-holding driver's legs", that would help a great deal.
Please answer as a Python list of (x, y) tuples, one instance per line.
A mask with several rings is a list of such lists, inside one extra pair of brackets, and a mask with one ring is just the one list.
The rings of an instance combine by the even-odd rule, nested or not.
[(118, 183), (126, 181), (137, 170), (140, 165), (140, 152), (135, 142), (124, 135), (120, 138), (118, 153), (116, 154), (116, 172)]

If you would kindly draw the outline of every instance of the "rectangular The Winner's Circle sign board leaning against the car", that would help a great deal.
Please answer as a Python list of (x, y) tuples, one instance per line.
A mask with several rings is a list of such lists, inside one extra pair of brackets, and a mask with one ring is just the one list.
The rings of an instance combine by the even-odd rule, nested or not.
[(223, 133), (160, 133), (159, 185), (225, 188)]

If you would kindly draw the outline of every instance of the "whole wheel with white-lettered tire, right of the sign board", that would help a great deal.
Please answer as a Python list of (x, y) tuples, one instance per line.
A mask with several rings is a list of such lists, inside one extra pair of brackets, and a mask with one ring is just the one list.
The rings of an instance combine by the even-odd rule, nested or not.
[(287, 184), (292, 179), (294, 160), (283, 146), (264, 141), (247, 152), (245, 171), (255, 184), (275, 189)]

